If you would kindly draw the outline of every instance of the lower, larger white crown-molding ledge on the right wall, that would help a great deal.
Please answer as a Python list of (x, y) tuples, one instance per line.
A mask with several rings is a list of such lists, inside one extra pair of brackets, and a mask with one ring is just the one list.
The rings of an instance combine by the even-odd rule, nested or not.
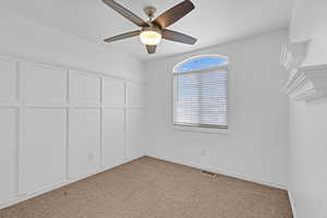
[(327, 97), (327, 64), (293, 70), (283, 89), (294, 100), (315, 100)]

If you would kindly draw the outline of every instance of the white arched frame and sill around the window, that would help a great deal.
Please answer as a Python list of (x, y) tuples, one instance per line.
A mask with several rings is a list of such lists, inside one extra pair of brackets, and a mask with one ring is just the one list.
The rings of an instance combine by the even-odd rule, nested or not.
[[(202, 71), (207, 71), (207, 70), (225, 70), (227, 73), (227, 125), (206, 125), (206, 124), (182, 124), (182, 123), (175, 123), (174, 122), (174, 76), (178, 74), (177, 69), (192, 60), (197, 60), (201, 58), (223, 58), (228, 60), (227, 64), (221, 64), (217, 66), (210, 66), (206, 69), (197, 69), (197, 70), (191, 70), (186, 72), (181, 72), (181, 74), (189, 74), (189, 73), (201, 73)], [(189, 59), (185, 59), (178, 64), (174, 65), (173, 71), (171, 73), (171, 124), (172, 129), (177, 131), (192, 131), (192, 132), (207, 132), (207, 133), (221, 133), (221, 134), (228, 134), (230, 131), (230, 122), (229, 122), (229, 76), (230, 76), (230, 59), (227, 56), (221, 56), (221, 55), (202, 55), (202, 56), (195, 56)]]

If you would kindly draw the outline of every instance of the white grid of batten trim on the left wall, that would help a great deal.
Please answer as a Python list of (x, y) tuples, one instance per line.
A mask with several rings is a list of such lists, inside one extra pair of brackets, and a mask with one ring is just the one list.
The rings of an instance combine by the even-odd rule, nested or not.
[[(19, 59), (19, 58), (13, 58), (10, 56), (0, 56), (0, 60), (9, 60), (12, 61), (15, 64), (15, 71), (16, 71), (16, 81), (15, 81), (15, 87), (16, 87), (16, 93), (15, 93), (15, 99), (8, 101), (8, 102), (0, 102), (0, 109), (14, 109), (16, 110), (16, 142), (15, 142), (15, 193), (14, 196), (9, 199), (9, 202), (7, 203), (1, 203), (0, 204), (0, 209), (5, 208), (8, 206), (17, 204), (20, 202), (26, 201), (28, 198), (35, 197), (37, 195), (44, 194), (46, 192), (52, 191), (55, 189), (68, 185), (70, 183), (76, 182), (81, 179), (85, 179), (89, 175), (93, 175), (95, 173), (99, 173), (102, 171), (106, 171), (108, 169), (111, 169), (113, 167), (119, 166), (120, 164), (117, 164), (114, 166), (110, 166), (110, 167), (105, 167), (104, 166), (104, 123), (102, 123), (102, 112), (104, 109), (121, 109), (124, 112), (124, 123), (123, 123), (123, 133), (124, 133), (124, 137), (123, 137), (123, 146), (124, 146), (124, 157), (123, 157), (123, 162), (128, 162), (130, 160), (132, 160), (133, 158), (128, 157), (126, 154), (126, 147), (128, 147), (128, 129), (126, 129), (126, 112), (128, 110), (132, 110), (132, 109), (138, 109), (138, 110), (145, 110), (144, 108), (144, 104), (142, 105), (137, 105), (137, 106), (133, 106), (133, 105), (128, 105), (128, 95), (126, 95), (126, 83), (132, 83), (137, 85), (137, 87), (140, 87), (141, 89), (144, 89), (144, 86), (146, 85), (143, 82), (138, 82), (138, 81), (134, 81), (134, 80), (129, 80), (129, 78), (123, 78), (123, 77), (118, 77), (118, 76), (112, 76), (109, 75), (107, 73), (99, 73), (99, 72), (92, 72), (92, 71), (83, 71), (83, 70), (76, 70), (76, 69), (71, 69), (71, 68), (64, 68), (64, 66), (59, 66), (59, 65), (51, 65), (51, 64), (47, 64), (47, 63), (43, 63), (43, 62), (37, 62), (37, 61), (29, 61), (26, 59)], [(26, 95), (26, 81), (25, 81), (25, 75), (21, 73), (21, 68), (22, 65), (25, 64), (29, 64), (29, 65), (37, 65), (37, 66), (41, 66), (41, 68), (46, 68), (46, 69), (52, 69), (52, 70), (60, 70), (62, 72), (65, 73), (65, 86), (66, 86), (66, 93), (65, 93), (65, 97), (64, 97), (64, 101), (62, 102), (37, 102), (37, 101), (29, 101), (27, 102), (25, 99), (25, 95)], [(92, 76), (92, 77), (96, 77), (100, 81), (99, 83), (99, 101), (95, 102), (95, 104), (77, 104), (74, 99), (73, 96), (73, 92), (72, 92), (72, 87), (73, 87), (73, 81), (75, 80), (77, 74), (83, 74), (83, 75), (87, 75), (87, 76)], [(104, 104), (104, 97), (102, 97), (102, 89), (104, 89), (104, 80), (105, 78), (114, 78), (114, 80), (120, 80), (123, 84), (124, 84), (124, 105), (121, 107), (108, 107), (105, 106)], [(58, 181), (53, 184), (47, 184), (44, 186), (38, 186), (36, 190), (33, 191), (28, 191), (28, 192), (22, 192), (22, 190), (20, 190), (21, 186), (21, 148), (23, 143), (25, 142), (24, 138), (24, 129), (25, 129), (25, 113), (27, 109), (63, 109), (65, 111), (65, 126), (66, 126), (66, 134), (65, 134), (65, 175), (63, 181)], [(74, 109), (97, 109), (100, 111), (100, 154), (99, 154), (99, 168), (96, 170), (93, 170), (89, 173), (83, 174), (83, 175), (78, 175), (78, 177), (74, 177), (71, 178), (70, 177), (70, 154), (69, 154), (69, 145), (70, 145), (70, 133), (71, 133), (71, 118), (72, 118), (72, 110)], [(144, 152), (142, 152), (144, 153)]]

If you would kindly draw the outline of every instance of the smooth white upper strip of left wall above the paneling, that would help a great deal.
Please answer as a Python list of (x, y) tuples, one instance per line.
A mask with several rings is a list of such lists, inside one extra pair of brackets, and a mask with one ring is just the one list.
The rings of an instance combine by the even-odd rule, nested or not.
[(142, 62), (0, 8), (0, 55), (143, 81)]

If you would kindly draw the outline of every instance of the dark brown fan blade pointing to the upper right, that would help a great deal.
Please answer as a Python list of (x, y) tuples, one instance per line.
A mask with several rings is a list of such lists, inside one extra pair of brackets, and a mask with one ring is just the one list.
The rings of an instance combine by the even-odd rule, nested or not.
[(161, 28), (166, 28), (179, 21), (187, 13), (190, 13), (194, 9), (194, 4), (190, 0), (184, 0), (183, 2), (177, 4), (175, 7), (169, 9), (160, 16), (158, 16), (153, 23)]

